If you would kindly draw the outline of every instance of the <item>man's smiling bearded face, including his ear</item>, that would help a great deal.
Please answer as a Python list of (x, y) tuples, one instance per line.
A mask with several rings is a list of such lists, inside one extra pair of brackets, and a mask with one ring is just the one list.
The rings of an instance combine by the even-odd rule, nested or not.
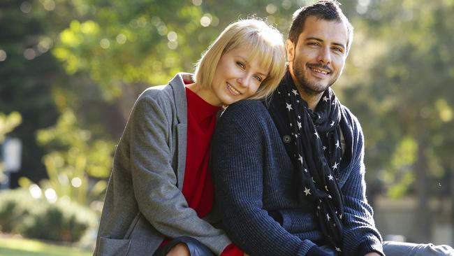
[(286, 42), (290, 71), (299, 90), (316, 95), (335, 83), (344, 69), (348, 39), (344, 22), (307, 17), (298, 43)]

